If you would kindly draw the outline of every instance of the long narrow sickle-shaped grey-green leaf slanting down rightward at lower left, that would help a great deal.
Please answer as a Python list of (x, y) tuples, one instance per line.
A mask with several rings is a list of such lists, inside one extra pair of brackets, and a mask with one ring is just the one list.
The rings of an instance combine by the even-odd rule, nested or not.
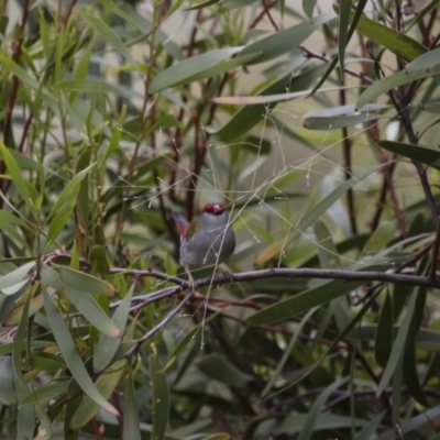
[(97, 389), (94, 382), (91, 381), (86, 367), (84, 366), (84, 361), (75, 346), (75, 342), (72, 339), (68, 328), (63, 320), (63, 317), (59, 315), (59, 311), (54, 306), (54, 302), (52, 301), (52, 298), (50, 297), (44, 285), (42, 286), (42, 288), (44, 295), (44, 306), (47, 314), (47, 319), (51, 323), (52, 332), (59, 346), (59, 350), (63, 352), (64, 359), (72, 372), (72, 375), (81, 387), (81, 389), (96, 404), (98, 404), (101, 408), (108, 410), (110, 414), (118, 416), (118, 410), (107, 402), (107, 399), (101, 395), (101, 393)]

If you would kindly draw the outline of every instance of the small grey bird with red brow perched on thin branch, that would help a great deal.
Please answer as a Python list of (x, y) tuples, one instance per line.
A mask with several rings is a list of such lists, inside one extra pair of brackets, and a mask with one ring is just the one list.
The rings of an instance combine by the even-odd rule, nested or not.
[(235, 235), (222, 204), (205, 205), (200, 217), (191, 223), (180, 212), (172, 211), (172, 218), (180, 232), (180, 264), (194, 292), (196, 283), (190, 271), (227, 260), (235, 249)]

